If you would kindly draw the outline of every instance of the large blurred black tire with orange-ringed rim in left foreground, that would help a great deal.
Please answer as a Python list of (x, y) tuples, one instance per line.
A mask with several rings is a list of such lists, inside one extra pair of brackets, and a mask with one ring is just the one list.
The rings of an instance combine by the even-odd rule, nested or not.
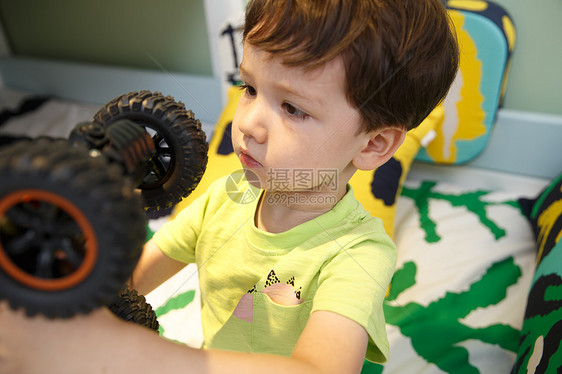
[(65, 140), (0, 149), (0, 299), (69, 317), (114, 300), (146, 238), (142, 201), (104, 157)]

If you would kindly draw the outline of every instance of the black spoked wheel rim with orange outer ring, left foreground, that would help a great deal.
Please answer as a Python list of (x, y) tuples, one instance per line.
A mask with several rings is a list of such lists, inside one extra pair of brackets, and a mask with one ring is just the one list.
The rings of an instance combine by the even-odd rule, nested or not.
[(0, 268), (28, 287), (60, 291), (92, 272), (98, 243), (89, 220), (67, 199), (19, 190), (0, 200)]

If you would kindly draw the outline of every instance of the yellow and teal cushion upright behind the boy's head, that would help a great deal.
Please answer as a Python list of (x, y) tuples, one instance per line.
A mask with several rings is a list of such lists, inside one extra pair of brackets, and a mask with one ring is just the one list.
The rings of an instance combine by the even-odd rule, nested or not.
[(461, 164), (484, 150), (505, 94), (515, 27), (498, 5), (451, 0), (449, 14), (460, 46), (460, 69), (444, 100), (435, 140), (417, 160)]

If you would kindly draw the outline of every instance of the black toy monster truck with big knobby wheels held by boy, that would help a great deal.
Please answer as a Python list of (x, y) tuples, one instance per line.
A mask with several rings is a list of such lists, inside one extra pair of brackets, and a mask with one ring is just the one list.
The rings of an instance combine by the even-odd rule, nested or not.
[(149, 91), (113, 99), (68, 140), (3, 147), (0, 299), (48, 317), (111, 304), (140, 257), (145, 212), (187, 196), (206, 163), (193, 113)]

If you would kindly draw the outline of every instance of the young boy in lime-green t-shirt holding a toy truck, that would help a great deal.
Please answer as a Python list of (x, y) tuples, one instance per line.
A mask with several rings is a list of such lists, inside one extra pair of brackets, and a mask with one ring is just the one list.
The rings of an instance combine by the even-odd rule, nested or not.
[[(103, 310), (45, 324), (4, 308), (0, 329), (64, 336), (47, 352), (73, 348), (62, 367), (80, 372), (358, 373), (365, 357), (384, 362), (396, 250), (348, 181), (385, 163), (446, 95), (458, 64), (449, 27), (439, 0), (250, 1), (232, 142), (246, 175), (237, 191), (255, 198), (233, 199), (218, 180), (147, 243), (132, 277), (146, 293), (196, 262), (207, 349)], [(30, 342), (36, 332), (21, 335), (5, 335), (16, 346), (7, 364), (23, 362), (18, 342), (52, 357)]]

